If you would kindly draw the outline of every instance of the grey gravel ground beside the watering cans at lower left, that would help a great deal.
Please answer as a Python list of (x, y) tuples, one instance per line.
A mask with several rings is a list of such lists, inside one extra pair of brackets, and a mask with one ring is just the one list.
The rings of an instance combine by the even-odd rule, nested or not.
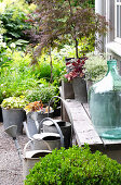
[[(24, 149), (28, 138), (25, 134), (17, 137), (18, 144)], [(4, 133), (0, 123), (0, 185), (23, 185), (23, 164), (18, 158), (13, 139)]]

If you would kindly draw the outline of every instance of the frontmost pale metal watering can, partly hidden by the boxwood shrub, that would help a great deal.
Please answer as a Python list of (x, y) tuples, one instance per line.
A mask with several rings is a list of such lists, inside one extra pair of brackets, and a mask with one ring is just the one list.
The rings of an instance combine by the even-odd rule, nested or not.
[(50, 146), (44, 141), (46, 146), (46, 150), (29, 150), (27, 151), (27, 147), (32, 140), (29, 140), (24, 147), (23, 153), (23, 177), (24, 180), (29, 174), (29, 170), (33, 168), (35, 163), (40, 161), (40, 157), (43, 158), (46, 155), (51, 153)]

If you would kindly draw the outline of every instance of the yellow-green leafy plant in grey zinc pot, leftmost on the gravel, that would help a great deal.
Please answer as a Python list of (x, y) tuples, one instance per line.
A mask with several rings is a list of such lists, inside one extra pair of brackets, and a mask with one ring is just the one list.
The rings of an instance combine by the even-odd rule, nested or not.
[(23, 133), (23, 121), (26, 119), (24, 107), (28, 103), (24, 96), (9, 97), (1, 103), (3, 125), (8, 128), (11, 125), (17, 125), (17, 133)]

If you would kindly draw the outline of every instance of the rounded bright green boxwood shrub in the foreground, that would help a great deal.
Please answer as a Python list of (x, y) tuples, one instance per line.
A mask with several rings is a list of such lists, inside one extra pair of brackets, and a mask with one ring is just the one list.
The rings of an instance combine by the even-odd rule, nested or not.
[(53, 150), (35, 164), (25, 185), (120, 185), (121, 164), (89, 146)]

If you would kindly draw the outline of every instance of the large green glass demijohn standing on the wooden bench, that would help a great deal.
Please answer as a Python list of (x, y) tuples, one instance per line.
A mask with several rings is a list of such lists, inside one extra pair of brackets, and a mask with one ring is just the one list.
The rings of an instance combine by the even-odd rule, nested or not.
[(121, 76), (117, 61), (107, 61), (106, 76), (94, 84), (89, 91), (92, 123), (103, 138), (121, 138)]

